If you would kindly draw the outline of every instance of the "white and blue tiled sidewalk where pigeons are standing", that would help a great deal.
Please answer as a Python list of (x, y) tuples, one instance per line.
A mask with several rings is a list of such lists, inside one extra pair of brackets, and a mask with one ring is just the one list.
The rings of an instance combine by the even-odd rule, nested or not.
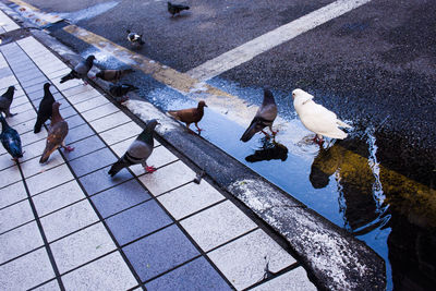
[[(8, 119), (24, 146), (17, 167), (0, 149), (1, 290), (242, 290), (268, 263), (282, 275), (256, 290), (315, 290), (295, 259), (156, 142), (141, 166), (107, 174), (142, 131), (33, 37), (0, 46), (0, 93), (15, 85)], [(39, 165), (47, 132), (33, 133), (50, 82), (69, 122), (66, 144)]]

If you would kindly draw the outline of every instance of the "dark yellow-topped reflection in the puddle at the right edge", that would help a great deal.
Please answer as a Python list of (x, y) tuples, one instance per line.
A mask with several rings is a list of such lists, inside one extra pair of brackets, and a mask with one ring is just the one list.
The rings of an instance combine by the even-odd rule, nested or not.
[(389, 260), (395, 290), (435, 290), (436, 191), (380, 168), (390, 205)]

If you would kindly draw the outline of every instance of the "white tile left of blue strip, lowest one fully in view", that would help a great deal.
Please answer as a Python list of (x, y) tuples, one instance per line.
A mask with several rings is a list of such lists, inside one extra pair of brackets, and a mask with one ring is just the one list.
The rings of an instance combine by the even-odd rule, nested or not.
[(60, 274), (117, 248), (100, 222), (50, 244)]

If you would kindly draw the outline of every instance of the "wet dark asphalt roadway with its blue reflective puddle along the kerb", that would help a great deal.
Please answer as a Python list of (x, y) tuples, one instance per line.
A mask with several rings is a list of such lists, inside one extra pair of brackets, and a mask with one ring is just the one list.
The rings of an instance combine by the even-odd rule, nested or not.
[[(28, 2), (56, 14), (84, 9), (81, 2)], [(175, 20), (165, 14), (165, 2), (137, 3), (147, 9), (145, 16), (126, 1), (114, 2), (77, 25), (132, 49), (124, 38), (132, 24), (128, 16), (146, 36), (146, 46), (135, 52), (183, 72), (331, 1), (286, 7), (193, 1), (196, 9)], [(372, 1), (207, 82), (249, 107), (261, 104), (264, 85), (272, 88), (279, 114), (290, 124), (277, 144), (259, 135), (239, 142), (250, 120), (217, 113), (231, 104), (206, 111), (202, 136), (367, 243), (387, 263), (388, 289), (426, 290), (436, 278), (435, 11), (428, 1)], [(82, 56), (95, 52), (63, 31), (52, 33)], [(97, 59), (105, 65), (110, 60)], [(125, 81), (162, 110), (195, 104), (141, 72)], [(313, 145), (290, 100), (295, 87), (351, 122), (350, 137), (323, 149)]]

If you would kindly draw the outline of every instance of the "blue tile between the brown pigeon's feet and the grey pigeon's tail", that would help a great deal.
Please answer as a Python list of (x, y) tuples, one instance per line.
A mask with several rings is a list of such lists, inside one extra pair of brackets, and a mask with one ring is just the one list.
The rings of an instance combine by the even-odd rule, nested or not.
[(117, 160), (118, 158), (112, 154), (112, 151), (105, 147), (89, 155), (70, 161), (70, 166), (77, 177), (82, 177), (99, 168), (112, 165)]

